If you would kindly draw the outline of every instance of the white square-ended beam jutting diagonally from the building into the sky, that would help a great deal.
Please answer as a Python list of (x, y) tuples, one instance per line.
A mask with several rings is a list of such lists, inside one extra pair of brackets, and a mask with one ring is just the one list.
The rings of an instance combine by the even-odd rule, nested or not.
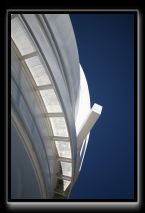
[(77, 136), (78, 147), (81, 147), (87, 134), (90, 132), (90, 130), (92, 129), (92, 127), (94, 126), (98, 118), (100, 117), (101, 112), (102, 112), (102, 106), (98, 104), (94, 104), (78, 133), (78, 136)]

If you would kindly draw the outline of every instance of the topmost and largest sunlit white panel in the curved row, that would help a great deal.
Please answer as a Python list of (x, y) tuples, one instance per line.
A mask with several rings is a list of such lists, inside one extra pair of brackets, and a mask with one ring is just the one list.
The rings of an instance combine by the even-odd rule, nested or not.
[(17, 17), (11, 21), (11, 37), (22, 56), (35, 51), (34, 45), (30, 40), (28, 33)]

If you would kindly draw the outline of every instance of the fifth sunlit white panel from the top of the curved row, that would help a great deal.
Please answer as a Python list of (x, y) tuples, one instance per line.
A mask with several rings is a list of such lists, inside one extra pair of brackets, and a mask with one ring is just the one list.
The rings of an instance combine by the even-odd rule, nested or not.
[(55, 141), (55, 145), (56, 145), (59, 157), (71, 158), (70, 142)]

